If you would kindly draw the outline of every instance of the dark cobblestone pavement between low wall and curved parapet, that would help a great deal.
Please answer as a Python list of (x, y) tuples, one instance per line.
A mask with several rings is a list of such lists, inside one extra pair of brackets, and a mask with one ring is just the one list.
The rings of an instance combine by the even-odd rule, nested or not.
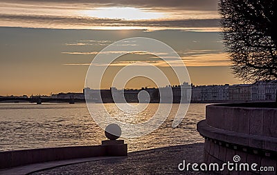
[[(35, 172), (46, 174), (204, 174), (203, 172), (181, 172), (179, 163), (203, 162), (204, 144), (179, 145), (154, 150), (131, 152), (125, 158), (116, 158), (87, 163), (78, 163)], [(208, 174), (211, 174), (208, 173)]]

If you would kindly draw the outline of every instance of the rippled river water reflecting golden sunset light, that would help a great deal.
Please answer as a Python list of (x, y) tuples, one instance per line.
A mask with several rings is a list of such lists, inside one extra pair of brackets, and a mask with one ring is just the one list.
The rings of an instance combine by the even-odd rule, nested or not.
[[(101, 104), (93, 105), (97, 111)], [(127, 114), (114, 104), (105, 104), (111, 116), (130, 123), (150, 119), (158, 106), (159, 104), (149, 104), (139, 114)], [(190, 104), (184, 120), (178, 127), (172, 128), (172, 121), (179, 107), (173, 104), (170, 116), (159, 129), (139, 138), (125, 138), (128, 151), (203, 142), (196, 131), (196, 124), (205, 118), (205, 106), (206, 104)], [(95, 115), (105, 117), (105, 114)], [(85, 104), (0, 103), (0, 151), (98, 145), (106, 139), (104, 135), (103, 130), (91, 118)]]

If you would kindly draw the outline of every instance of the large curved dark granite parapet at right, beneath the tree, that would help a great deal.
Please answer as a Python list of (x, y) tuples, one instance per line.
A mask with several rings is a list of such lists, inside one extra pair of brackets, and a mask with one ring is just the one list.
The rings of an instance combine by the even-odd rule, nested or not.
[[(206, 120), (197, 124), (205, 138), (205, 163), (226, 163), (240, 156), (242, 163), (277, 167), (277, 108), (275, 103), (206, 106)], [(244, 174), (225, 169), (220, 174)], [(251, 172), (265, 174), (265, 172)]]

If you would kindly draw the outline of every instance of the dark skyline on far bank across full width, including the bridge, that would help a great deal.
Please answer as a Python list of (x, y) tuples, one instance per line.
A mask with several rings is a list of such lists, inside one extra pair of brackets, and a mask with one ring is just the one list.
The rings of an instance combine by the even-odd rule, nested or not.
[[(189, 85), (184, 82), (181, 85), (166, 85), (160, 88), (139, 88), (139, 89), (117, 89), (97, 90), (89, 87), (80, 92), (60, 92), (49, 96), (0, 96), (0, 102), (19, 103), (29, 101), (30, 103), (42, 104), (52, 103), (139, 103), (139, 93), (146, 91), (150, 97), (144, 102), (161, 103), (160, 94), (163, 96), (163, 103), (226, 103), (226, 102), (249, 102), (249, 101), (275, 101), (277, 91), (277, 80), (256, 81), (251, 84), (237, 85)], [(170, 95), (172, 92), (172, 96)], [(125, 100), (124, 100), (124, 99)], [(39, 102), (40, 99), (40, 102)], [(168, 101), (169, 100), (169, 101)], [(143, 102), (141, 101), (141, 102)]]

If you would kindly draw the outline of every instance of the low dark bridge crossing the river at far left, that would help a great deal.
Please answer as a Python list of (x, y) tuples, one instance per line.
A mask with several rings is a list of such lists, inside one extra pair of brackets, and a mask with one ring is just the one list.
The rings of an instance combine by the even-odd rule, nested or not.
[(57, 99), (57, 98), (45, 98), (42, 96), (32, 96), (32, 97), (1, 97), (0, 103), (37, 103), (38, 105), (42, 103), (85, 103), (86, 101), (84, 99), (75, 99), (75, 98), (69, 98), (69, 99)]

